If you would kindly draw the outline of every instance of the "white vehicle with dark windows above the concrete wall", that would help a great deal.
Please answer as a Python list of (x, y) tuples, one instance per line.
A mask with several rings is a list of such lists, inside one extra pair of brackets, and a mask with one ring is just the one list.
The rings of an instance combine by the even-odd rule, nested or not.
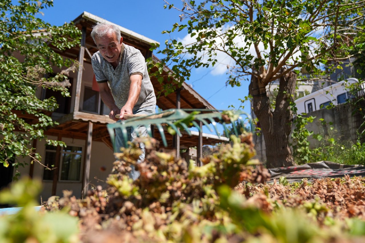
[[(329, 104), (338, 105), (345, 103), (347, 99), (351, 98), (350, 93), (346, 90), (346, 86), (355, 82), (358, 82), (357, 78), (347, 78), (346, 81), (337, 82), (295, 100), (296, 108), (298, 109), (297, 113), (309, 113), (324, 109)], [(360, 92), (364, 94), (364, 84), (362, 84)]]

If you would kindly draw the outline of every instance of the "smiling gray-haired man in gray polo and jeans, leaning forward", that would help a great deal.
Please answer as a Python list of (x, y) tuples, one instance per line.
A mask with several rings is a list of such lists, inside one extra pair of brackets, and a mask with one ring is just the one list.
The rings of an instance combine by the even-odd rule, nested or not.
[[(101, 99), (110, 109), (109, 118), (118, 122), (125, 114), (154, 114), (156, 96), (141, 51), (122, 43), (119, 28), (112, 24), (96, 24), (91, 36), (99, 49), (92, 56), (92, 67)], [(115, 118), (117, 114), (119, 119)], [(128, 138), (134, 139), (137, 132), (140, 136), (147, 136), (146, 127), (140, 127), (138, 131), (128, 131)], [(115, 144), (118, 150), (123, 145), (118, 130)], [(145, 158), (144, 144), (140, 146), (142, 155), (138, 162)], [(134, 167), (130, 177), (133, 180), (139, 177)]]

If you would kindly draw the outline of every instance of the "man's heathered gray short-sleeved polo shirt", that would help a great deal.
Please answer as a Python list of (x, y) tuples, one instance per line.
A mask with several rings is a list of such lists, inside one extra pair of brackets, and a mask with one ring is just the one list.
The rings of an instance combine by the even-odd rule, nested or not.
[(141, 51), (122, 43), (119, 65), (114, 70), (99, 51), (92, 56), (92, 67), (98, 83), (108, 82), (115, 104), (122, 108), (128, 100), (130, 79), (133, 74), (142, 76), (141, 93), (133, 110), (156, 104), (155, 92), (147, 72), (145, 58)]

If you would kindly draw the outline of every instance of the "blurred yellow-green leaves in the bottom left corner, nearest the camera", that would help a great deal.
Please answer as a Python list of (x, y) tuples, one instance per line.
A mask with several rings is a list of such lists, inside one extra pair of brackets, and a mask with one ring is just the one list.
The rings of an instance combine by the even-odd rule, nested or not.
[(23, 179), (10, 189), (0, 192), (0, 203), (16, 204), (20, 211), (14, 215), (0, 214), (0, 242), (79, 242), (78, 219), (66, 211), (38, 212), (35, 196), (41, 192), (41, 182)]

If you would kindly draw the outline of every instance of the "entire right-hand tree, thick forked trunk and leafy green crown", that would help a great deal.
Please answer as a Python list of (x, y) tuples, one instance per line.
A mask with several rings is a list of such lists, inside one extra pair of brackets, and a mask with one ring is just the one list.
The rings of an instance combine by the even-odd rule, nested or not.
[[(162, 66), (172, 69), (171, 80), (188, 80), (191, 69), (222, 64), (228, 57), (226, 85), (240, 86), (250, 81), (252, 107), (265, 138), (268, 166), (293, 165), (288, 138), (293, 113), (296, 74), (305, 68), (322, 76), (342, 61), (365, 49), (354, 38), (364, 31), (364, 0), (182, 0), (175, 7), (181, 23), (171, 34), (186, 31), (183, 40), (166, 40), (159, 51)], [(151, 66), (151, 65), (150, 65)], [(161, 78), (161, 81), (163, 79)], [(266, 86), (280, 80), (274, 110)], [(282, 139), (278, 139), (282, 138)], [(285, 161), (285, 162), (282, 162)]]

